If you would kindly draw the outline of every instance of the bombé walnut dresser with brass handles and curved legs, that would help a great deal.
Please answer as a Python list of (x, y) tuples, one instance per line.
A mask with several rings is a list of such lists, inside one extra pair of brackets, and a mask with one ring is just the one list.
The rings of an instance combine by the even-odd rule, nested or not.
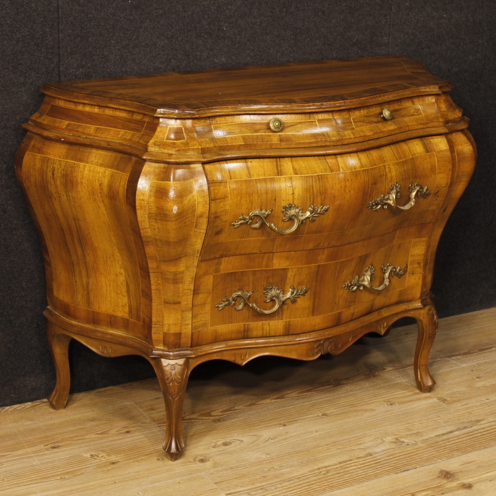
[(434, 254), (476, 156), (450, 88), (403, 57), (43, 86), (16, 170), (44, 249), (52, 406), (72, 338), (141, 355), (175, 460), (196, 365), (312, 360), (405, 316), (430, 391)]

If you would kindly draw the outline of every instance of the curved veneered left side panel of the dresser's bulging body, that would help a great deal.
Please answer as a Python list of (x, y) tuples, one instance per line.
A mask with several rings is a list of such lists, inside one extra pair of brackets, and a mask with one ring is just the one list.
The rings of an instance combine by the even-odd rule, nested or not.
[(18, 177), (45, 245), (49, 307), (148, 341), (150, 284), (132, 192), (142, 161), (28, 136)]

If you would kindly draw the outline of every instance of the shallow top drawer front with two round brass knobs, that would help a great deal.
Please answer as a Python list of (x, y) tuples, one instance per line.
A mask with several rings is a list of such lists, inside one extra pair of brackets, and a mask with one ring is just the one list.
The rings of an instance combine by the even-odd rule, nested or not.
[[(390, 111), (387, 119), (384, 109)], [(279, 147), (341, 145), (441, 127), (446, 120), (456, 121), (461, 115), (448, 95), (425, 95), (333, 112), (215, 117), (209, 126), (196, 129), (195, 136), (202, 149), (211, 146), (212, 140), (217, 146), (232, 146), (236, 141), (257, 147), (269, 143)], [(280, 129), (274, 126), (274, 118), (280, 120)]]

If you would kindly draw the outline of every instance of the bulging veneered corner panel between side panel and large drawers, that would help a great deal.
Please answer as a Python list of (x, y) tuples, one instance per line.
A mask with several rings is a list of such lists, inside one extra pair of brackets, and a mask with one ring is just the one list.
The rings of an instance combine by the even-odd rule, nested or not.
[(136, 204), (152, 280), (153, 342), (188, 347), (195, 269), (208, 223), (203, 169), (146, 162)]

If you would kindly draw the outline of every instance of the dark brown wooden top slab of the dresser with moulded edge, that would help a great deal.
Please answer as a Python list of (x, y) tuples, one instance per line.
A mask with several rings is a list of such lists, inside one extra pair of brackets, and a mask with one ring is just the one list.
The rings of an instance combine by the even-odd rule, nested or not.
[(400, 56), (48, 83), (43, 93), (157, 117), (349, 109), (451, 89)]

